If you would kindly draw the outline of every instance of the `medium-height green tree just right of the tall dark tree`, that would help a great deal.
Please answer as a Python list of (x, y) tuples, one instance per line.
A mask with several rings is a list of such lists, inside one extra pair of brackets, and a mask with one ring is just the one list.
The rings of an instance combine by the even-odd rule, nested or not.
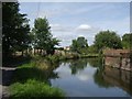
[(46, 18), (38, 18), (34, 22), (34, 47), (46, 51), (47, 54), (54, 54), (55, 45), (58, 40), (51, 34), (51, 26)]

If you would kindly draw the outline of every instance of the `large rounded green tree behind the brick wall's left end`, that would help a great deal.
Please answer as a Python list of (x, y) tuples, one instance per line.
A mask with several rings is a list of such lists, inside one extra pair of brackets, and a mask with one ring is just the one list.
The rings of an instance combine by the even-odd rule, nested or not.
[(105, 47), (109, 48), (122, 48), (121, 38), (113, 31), (101, 31), (95, 37), (95, 46), (98, 51)]

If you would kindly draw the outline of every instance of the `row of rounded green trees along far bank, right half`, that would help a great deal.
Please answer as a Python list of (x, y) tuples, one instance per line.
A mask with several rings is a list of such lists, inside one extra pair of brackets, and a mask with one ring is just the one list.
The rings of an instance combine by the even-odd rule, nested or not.
[(88, 46), (87, 38), (79, 36), (73, 40), (70, 48), (79, 54), (101, 53), (105, 48), (132, 50), (132, 33), (120, 37), (114, 31), (100, 31), (96, 34), (92, 45)]

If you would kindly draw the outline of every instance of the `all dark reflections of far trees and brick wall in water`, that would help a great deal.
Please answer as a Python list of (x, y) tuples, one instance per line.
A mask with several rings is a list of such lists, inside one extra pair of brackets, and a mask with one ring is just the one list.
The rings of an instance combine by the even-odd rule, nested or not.
[(120, 87), (123, 90), (132, 95), (132, 73), (120, 70), (117, 68), (108, 68), (102, 65), (102, 58), (84, 58), (84, 59), (70, 59), (66, 62), (69, 64), (72, 75), (84, 70), (88, 64), (96, 67), (97, 70), (94, 74), (94, 81), (102, 88)]

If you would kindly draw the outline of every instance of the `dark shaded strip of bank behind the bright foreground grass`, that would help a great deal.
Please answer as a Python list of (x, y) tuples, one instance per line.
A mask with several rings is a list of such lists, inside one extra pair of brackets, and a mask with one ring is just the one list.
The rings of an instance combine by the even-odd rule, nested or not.
[(36, 67), (22, 67), (14, 72), (12, 82), (25, 82), (28, 79), (35, 79), (50, 84), (50, 79), (58, 78), (52, 69), (43, 70)]

